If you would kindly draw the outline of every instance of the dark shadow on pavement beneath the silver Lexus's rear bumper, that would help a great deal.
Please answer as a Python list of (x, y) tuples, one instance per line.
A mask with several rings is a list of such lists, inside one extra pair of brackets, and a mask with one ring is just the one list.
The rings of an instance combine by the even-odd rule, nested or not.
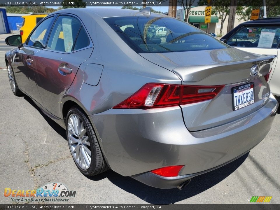
[(133, 178), (117, 174), (112, 170), (88, 178), (93, 181), (108, 178), (109, 181), (119, 188), (132, 193), (151, 204), (174, 204), (178, 201), (197, 195), (213, 187), (220, 181), (223, 181), (223, 179), (232, 174), (232, 172), (234, 172), (244, 160), (246, 160), (248, 154), (249, 152), (223, 167), (192, 178), (192, 181), (183, 188), (183, 190), (178, 190), (177, 188), (167, 190), (153, 188), (136, 181)]

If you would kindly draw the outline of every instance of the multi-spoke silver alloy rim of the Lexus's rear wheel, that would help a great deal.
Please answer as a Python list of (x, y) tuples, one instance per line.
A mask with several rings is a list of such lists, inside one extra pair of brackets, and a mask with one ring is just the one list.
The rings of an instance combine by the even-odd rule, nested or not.
[(67, 122), (68, 143), (76, 163), (87, 170), (91, 162), (91, 149), (88, 132), (81, 118), (72, 113)]

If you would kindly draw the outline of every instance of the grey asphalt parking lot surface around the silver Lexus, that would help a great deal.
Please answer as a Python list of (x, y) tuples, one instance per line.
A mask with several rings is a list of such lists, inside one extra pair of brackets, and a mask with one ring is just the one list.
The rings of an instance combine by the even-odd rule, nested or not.
[(111, 170), (83, 176), (70, 155), (65, 130), (29, 97), (13, 95), (4, 62), (11, 49), (4, 43), (6, 36), (0, 35), (0, 203), (15, 203), (3, 196), (4, 188), (33, 190), (47, 183), (76, 191), (65, 203), (247, 204), (252, 196), (272, 196), (270, 203), (280, 203), (280, 111), (250, 153), (193, 178), (183, 190), (152, 188)]

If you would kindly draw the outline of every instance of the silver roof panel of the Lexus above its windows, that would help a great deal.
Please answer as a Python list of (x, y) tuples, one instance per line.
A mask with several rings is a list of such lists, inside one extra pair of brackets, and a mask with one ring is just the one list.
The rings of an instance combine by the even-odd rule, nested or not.
[[(86, 8), (68, 8), (55, 11), (51, 14), (57, 13), (71, 13), (74, 15), (83, 15), (84, 13), (95, 13), (96, 15), (100, 16), (101, 18), (105, 17), (121, 17), (121, 16), (143, 16), (148, 15), (143, 13), (139, 10), (129, 10), (129, 9), (116, 9), (116, 8), (94, 8), (94, 7), (86, 7)], [(94, 16), (94, 15), (92, 15)], [(158, 13), (152, 13), (152, 16), (162, 16), (167, 17), (166, 15), (161, 15)]]

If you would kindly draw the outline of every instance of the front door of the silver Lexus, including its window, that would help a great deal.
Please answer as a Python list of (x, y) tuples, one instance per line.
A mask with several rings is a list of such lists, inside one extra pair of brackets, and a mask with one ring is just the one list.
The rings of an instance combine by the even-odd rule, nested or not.
[(27, 95), (36, 100), (39, 104), (42, 104), (42, 100), (35, 78), (35, 56), (43, 47), (43, 41), (46, 39), (47, 30), (52, 21), (53, 17), (50, 17), (41, 22), (32, 32), (27, 44), (17, 49), (17, 52), (12, 58), (18, 85)]

